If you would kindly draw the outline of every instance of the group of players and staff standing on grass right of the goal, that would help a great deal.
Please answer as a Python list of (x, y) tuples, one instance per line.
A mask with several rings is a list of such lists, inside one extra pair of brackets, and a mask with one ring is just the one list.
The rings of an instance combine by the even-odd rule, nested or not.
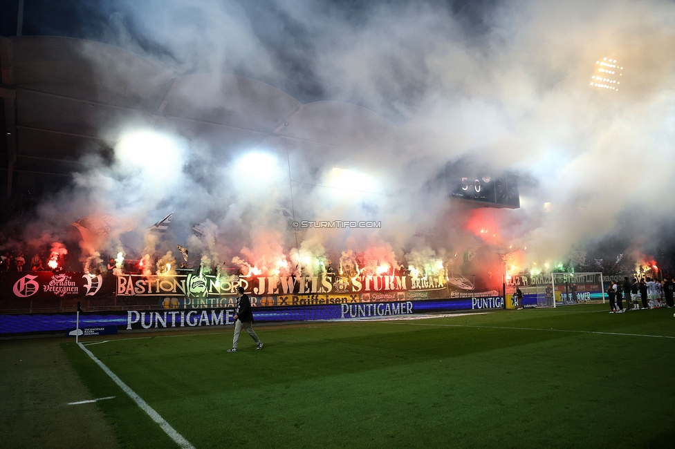
[[(673, 283), (672, 276), (665, 276), (662, 281), (645, 278), (638, 280), (633, 278), (629, 280), (628, 276), (623, 278), (623, 283), (616, 281), (607, 287), (607, 296), (609, 296), (609, 307), (611, 314), (620, 314), (627, 310), (644, 310), (674, 307), (673, 301)], [(623, 301), (626, 301), (626, 307), (623, 307)]]

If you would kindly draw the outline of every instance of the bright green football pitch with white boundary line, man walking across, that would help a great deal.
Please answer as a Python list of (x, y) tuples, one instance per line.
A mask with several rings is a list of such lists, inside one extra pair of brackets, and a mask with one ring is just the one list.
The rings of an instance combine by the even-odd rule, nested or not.
[[(72, 340), (31, 344), (65, 353), (86, 393), (73, 401), (112, 397), (52, 412), (84, 421), (89, 412), (77, 408), (88, 407), (111, 429), (113, 446), (179, 447), (177, 439), (198, 449), (674, 447), (672, 310), (608, 308), (255, 325), (263, 350), (244, 333), (234, 354), (226, 352), (232, 327), (84, 338), (164, 430)], [(1, 343), (6, 354), (21, 344)], [(16, 417), (15, 402), (2, 413)], [(12, 426), (5, 442), (23, 446), (21, 426), (39, 426), (36, 419), (3, 418), (3, 428)], [(106, 431), (89, 429), (87, 438)]]

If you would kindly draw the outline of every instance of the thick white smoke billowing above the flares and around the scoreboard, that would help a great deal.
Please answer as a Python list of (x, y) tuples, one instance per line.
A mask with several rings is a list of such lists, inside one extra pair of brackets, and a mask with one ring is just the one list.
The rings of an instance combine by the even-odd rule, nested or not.
[[(391, 123), (382, 119), (386, 132), (355, 144), (344, 144), (354, 135), (341, 135), (343, 144), (316, 146), (281, 131), (234, 149), (161, 121), (115, 124), (107, 136), (115, 142), (111, 166), (91, 160), (58, 206), (41, 209), (53, 227), (113, 216), (117, 224), (98, 251), (123, 247), (140, 258), (191, 243), (209, 264), (237, 257), (272, 274), (299, 265), (313, 272), (326, 256), (337, 262), (349, 250), (373, 253), (377, 264), (409, 259), (426, 270), (459, 269), (454, 254), (477, 245), (458, 218), (467, 213), (448, 200), (456, 180), (445, 169), (460, 162), (520, 175), (521, 208), (492, 214), (490, 245), (527, 247), (528, 264), (637, 229), (649, 252), (652, 232), (675, 212), (671, 3), (498, 3), (483, 12), (482, 28), (436, 3), (356, 11), (308, 1), (270, 1), (263, 10), (214, 0), (118, 7), (136, 34), (120, 28), (111, 44), (168, 72), (206, 73), (214, 84), (221, 73), (247, 75), (297, 97), (358, 104)], [(131, 38), (139, 30), (166, 51), (142, 50)], [(589, 85), (603, 57), (625, 66), (618, 92)], [(103, 84), (105, 72), (98, 72)], [(210, 104), (206, 84), (189, 92), (192, 107), (243, 105)], [(331, 123), (324, 126), (328, 135)], [(350, 126), (367, 128), (360, 119)], [(284, 209), (296, 220), (382, 227), (296, 231)], [(146, 228), (174, 210), (167, 234), (148, 237)], [(209, 236), (194, 240), (189, 225), (200, 223)], [(315, 262), (304, 264), (307, 254)]]

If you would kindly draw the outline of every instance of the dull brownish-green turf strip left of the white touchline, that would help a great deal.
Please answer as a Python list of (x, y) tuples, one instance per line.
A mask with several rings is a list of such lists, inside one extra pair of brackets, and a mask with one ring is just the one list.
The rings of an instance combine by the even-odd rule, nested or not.
[(119, 447), (95, 404), (67, 405), (91, 397), (59, 347), (62, 341), (0, 341), (0, 448)]

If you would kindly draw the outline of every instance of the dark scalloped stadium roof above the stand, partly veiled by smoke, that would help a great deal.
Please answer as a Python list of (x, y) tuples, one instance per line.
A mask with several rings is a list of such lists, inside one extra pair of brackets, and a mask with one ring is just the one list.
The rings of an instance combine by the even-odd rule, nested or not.
[[(0, 37), (0, 175), (6, 194), (65, 178), (104, 153), (122, 126), (154, 123), (220, 151), (286, 137), (364, 147), (394, 127), (354, 104), (297, 99), (228, 73), (175, 75), (155, 61), (70, 37)], [(5, 159), (6, 158), (6, 159)], [(2, 161), (6, 160), (6, 164)]]

